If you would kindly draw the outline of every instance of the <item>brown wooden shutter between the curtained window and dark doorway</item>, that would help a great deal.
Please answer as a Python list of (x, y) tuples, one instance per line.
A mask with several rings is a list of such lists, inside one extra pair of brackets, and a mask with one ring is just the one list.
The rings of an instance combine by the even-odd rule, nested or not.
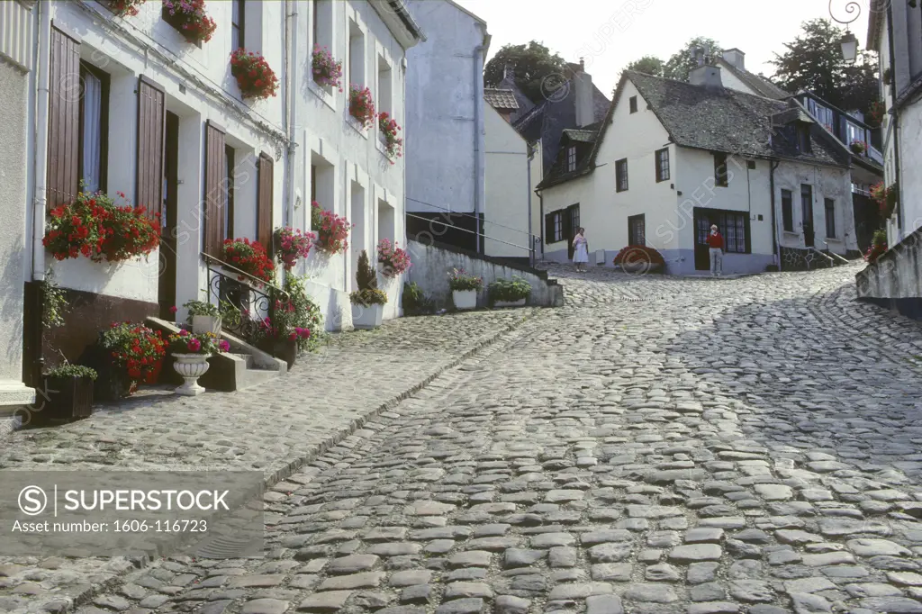
[(147, 77), (137, 85), (136, 205), (151, 218), (163, 206), (163, 151), (166, 136), (166, 93)]

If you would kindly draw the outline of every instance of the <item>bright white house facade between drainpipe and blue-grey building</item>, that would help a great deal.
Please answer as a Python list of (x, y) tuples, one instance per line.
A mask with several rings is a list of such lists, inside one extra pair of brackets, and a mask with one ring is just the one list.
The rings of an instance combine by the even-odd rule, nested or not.
[[(356, 23), (364, 38), (364, 82), (372, 89), (380, 106), (381, 83), (377, 71), (379, 58), (390, 65), (392, 115), (403, 127), (405, 141), (408, 127), (404, 111), (404, 83), (406, 71), (403, 66), (404, 49), (388, 30), (374, 8), (365, 2), (330, 2), (332, 9), (332, 53), (343, 63), (343, 90), (327, 92), (313, 82), (313, 7), (303, 0), (298, 5), (297, 41), (292, 51), (292, 77), (297, 82), (295, 92), (294, 124), (297, 126), (296, 157), (294, 177), (296, 198), (300, 195), (301, 206), (294, 211), (292, 225), (310, 230), (310, 205), (312, 165), (317, 169), (317, 201), (327, 210), (349, 218), (365, 229), (364, 239), (349, 237), (349, 252), (328, 256), (313, 250), (307, 262), (298, 267), (297, 273), (306, 274), (311, 283), (308, 289), (318, 302), (324, 315), (327, 330), (339, 330), (351, 326), (351, 304), (349, 291), (354, 283), (354, 259), (364, 246), (372, 264), (376, 260), (379, 236), (378, 215), (381, 203), (394, 210), (393, 240), (406, 244), (404, 204), (404, 161), (397, 158), (394, 164), (384, 155), (379, 142), (377, 126), (365, 132), (358, 129), (349, 116), (349, 21)], [(405, 143), (406, 145), (406, 143)], [(361, 187), (363, 204), (353, 209), (353, 186)], [(357, 194), (360, 192), (357, 191)], [(357, 218), (357, 215), (359, 218)], [(402, 279), (379, 279), (379, 286), (388, 292), (388, 303), (384, 318), (400, 315), (399, 297)]]

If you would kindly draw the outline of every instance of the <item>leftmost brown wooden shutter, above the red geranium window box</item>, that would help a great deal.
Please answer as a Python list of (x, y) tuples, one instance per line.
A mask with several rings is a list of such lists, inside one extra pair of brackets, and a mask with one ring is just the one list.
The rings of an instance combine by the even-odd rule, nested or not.
[(48, 207), (80, 189), (80, 43), (52, 28), (48, 100)]

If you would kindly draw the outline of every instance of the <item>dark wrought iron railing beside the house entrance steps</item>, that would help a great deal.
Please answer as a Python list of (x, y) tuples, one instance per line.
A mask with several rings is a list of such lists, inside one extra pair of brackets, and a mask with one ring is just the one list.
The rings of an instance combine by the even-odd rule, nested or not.
[(202, 254), (207, 267), (208, 302), (219, 306), (221, 328), (235, 337), (254, 341), (272, 319), (276, 301), (288, 302), (289, 293), (209, 254)]

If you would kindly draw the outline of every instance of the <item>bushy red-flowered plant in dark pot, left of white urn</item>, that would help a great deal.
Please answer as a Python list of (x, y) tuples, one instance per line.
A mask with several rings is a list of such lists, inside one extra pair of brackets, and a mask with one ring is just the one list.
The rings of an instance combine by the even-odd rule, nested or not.
[(133, 394), (138, 383), (156, 384), (166, 345), (160, 331), (136, 322), (113, 322), (100, 333), (102, 349), (100, 378), (95, 394), (116, 401)]

